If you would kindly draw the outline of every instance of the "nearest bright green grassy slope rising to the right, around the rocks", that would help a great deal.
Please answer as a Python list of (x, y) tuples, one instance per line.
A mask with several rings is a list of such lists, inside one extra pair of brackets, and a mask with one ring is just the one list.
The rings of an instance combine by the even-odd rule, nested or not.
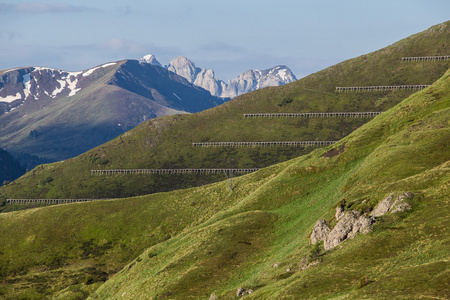
[[(280, 165), (237, 205), (146, 250), (92, 298), (233, 299), (242, 286), (254, 299), (448, 297), (449, 76), (343, 139), (342, 154), (317, 150)], [(341, 199), (373, 208), (405, 190), (416, 195), (412, 212), (378, 218), (373, 233), (301, 270), (313, 225)]]

